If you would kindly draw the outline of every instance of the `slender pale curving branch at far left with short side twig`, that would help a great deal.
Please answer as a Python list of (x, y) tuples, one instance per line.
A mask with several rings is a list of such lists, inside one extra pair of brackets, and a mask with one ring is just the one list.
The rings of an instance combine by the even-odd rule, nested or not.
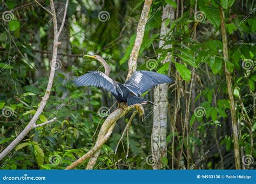
[[(25, 137), (26, 134), (28, 134), (31, 130), (49, 124), (52, 121), (55, 121), (56, 118), (53, 118), (52, 120), (48, 122), (44, 122), (43, 124), (36, 125), (36, 121), (39, 118), (39, 115), (43, 112), (44, 107), (49, 99), (51, 88), (52, 88), (52, 83), (53, 83), (53, 78), (55, 74), (55, 67), (56, 67), (56, 59), (57, 59), (57, 51), (58, 51), (58, 26), (57, 26), (57, 17), (55, 13), (55, 7), (53, 4), (53, 0), (50, 0), (51, 4), (51, 12), (50, 14), (52, 15), (53, 18), (53, 30), (54, 30), (54, 40), (53, 40), (53, 49), (52, 49), (52, 64), (51, 64), (51, 70), (50, 70), (50, 76), (48, 80), (48, 85), (45, 91), (45, 94), (41, 100), (41, 103), (39, 104), (36, 113), (33, 115), (32, 119), (30, 120), (29, 124), (24, 128), (24, 130), (17, 136), (17, 138), (11, 142), (11, 144), (4, 149), (2, 153), (0, 153), (0, 160), (2, 160), (8, 153), (14, 149), (19, 142), (22, 141), (22, 139)], [(63, 18), (63, 21), (65, 21), (65, 17)], [(61, 29), (60, 29), (61, 31)]]

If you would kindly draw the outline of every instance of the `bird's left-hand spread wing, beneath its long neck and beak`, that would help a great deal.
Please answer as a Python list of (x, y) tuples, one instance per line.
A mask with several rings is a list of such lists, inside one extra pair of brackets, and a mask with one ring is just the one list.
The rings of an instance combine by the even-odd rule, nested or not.
[(73, 80), (73, 83), (77, 86), (102, 87), (105, 90), (110, 91), (112, 94), (117, 95), (117, 88), (114, 81), (109, 76), (100, 71), (89, 71), (83, 76)]

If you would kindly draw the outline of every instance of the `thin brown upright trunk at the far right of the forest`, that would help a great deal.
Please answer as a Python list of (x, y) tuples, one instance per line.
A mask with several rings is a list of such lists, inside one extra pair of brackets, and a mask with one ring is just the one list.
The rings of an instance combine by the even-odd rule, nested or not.
[[(228, 60), (227, 35), (225, 30), (225, 14), (224, 14), (223, 8), (221, 7), (220, 7), (220, 21), (221, 21), (220, 27), (221, 27), (221, 35), (222, 35), (222, 42), (223, 42), (223, 55), (224, 55), (224, 59)], [(225, 61), (224, 61), (224, 66), (225, 66), (228, 97), (230, 99), (232, 131), (233, 131), (233, 140), (234, 140), (235, 169), (241, 169), (240, 151), (239, 151), (239, 142), (238, 142), (238, 125), (237, 125), (237, 117), (235, 115), (235, 101), (234, 101), (233, 89), (232, 89), (232, 79), (231, 79), (230, 71), (227, 70), (227, 65)]]

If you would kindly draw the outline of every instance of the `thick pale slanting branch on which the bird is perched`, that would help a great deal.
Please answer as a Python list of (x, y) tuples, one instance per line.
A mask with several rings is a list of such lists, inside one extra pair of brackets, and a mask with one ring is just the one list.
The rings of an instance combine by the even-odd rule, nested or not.
[[(143, 36), (144, 36), (144, 32), (145, 32), (145, 25), (147, 22), (147, 18), (149, 16), (151, 4), (152, 4), (152, 0), (145, 0), (143, 10), (142, 10), (142, 16), (140, 16), (140, 19), (139, 19), (137, 35), (136, 35), (136, 39), (135, 39), (136, 41), (133, 45), (132, 53), (131, 53), (130, 59), (129, 59), (130, 75), (131, 75), (131, 73), (136, 71), (136, 68), (137, 68), (138, 53), (140, 50), (140, 46), (142, 45), (142, 40), (143, 40)], [(128, 74), (126, 80), (129, 78), (130, 78), (130, 76)], [(125, 114), (127, 114), (130, 110), (131, 110), (131, 108), (127, 107), (127, 105), (122, 105), (121, 108), (118, 108), (116, 111), (112, 112), (109, 115), (109, 117), (107, 117), (107, 119), (104, 121), (102, 127), (100, 128), (98, 138), (96, 141), (96, 145), (99, 145), (99, 147), (97, 147), (97, 149), (95, 147), (93, 147), (92, 148), (93, 150), (91, 149), (92, 151), (91, 150), (89, 151), (91, 158), (87, 164), (86, 169), (92, 169), (95, 166), (95, 163), (96, 163), (99, 153), (100, 153), (100, 148), (102, 147), (102, 145), (100, 146), (100, 143), (103, 141), (106, 142), (107, 139), (109, 139), (109, 137), (106, 137), (106, 134), (107, 134), (107, 132), (109, 132), (110, 127), (112, 128), (112, 126), (113, 126), (113, 128), (114, 128), (114, 126), (116, 125), (116, 121), (119, 118), (123, 117)], [(110, 134), (111, 133), (112, 133), (112, 131), (110, 132)], [(71, 163), (70, 166), (66, 167), (66, 169), (73, 169), (76, 166), (78, 166), (80, 163), (82, 163), (84, 160), (89, 158), (89, 156), (85, 156), (85, 155), (82, 156), (82, 158), (84, 158), (84, 159), (81, 159), (81, 158), (80, 158), (80, 160), (78, 159), (77, 161)]]

